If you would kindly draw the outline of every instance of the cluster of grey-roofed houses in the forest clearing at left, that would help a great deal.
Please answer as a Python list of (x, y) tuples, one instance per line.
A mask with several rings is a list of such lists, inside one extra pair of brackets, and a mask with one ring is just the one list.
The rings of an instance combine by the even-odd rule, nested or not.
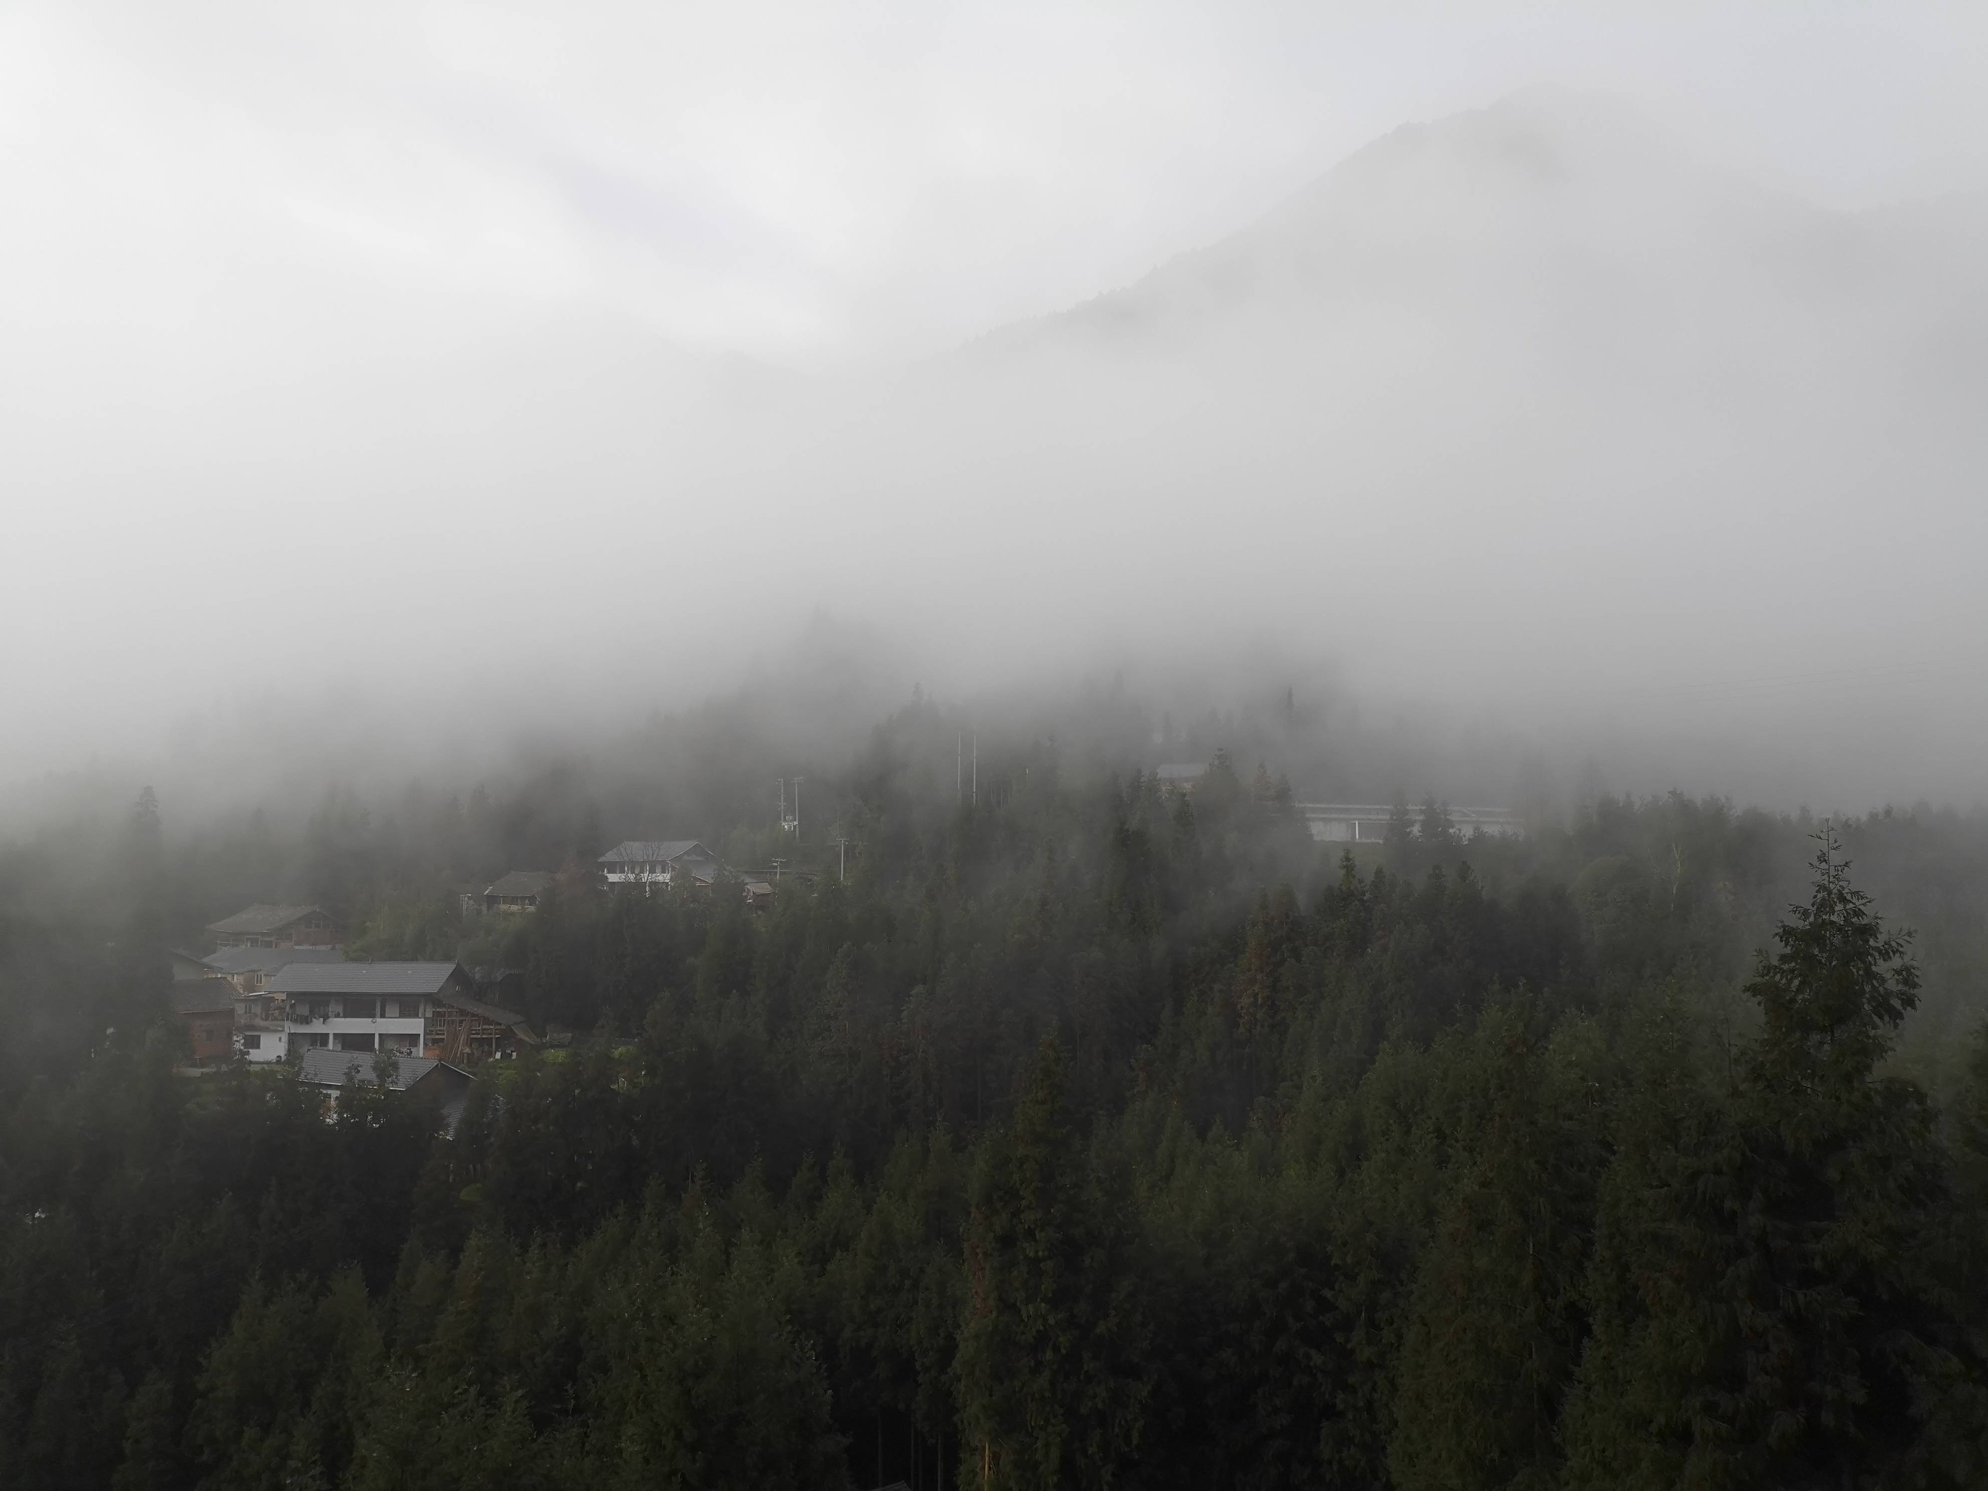
[(421, 1064), (503, 1060), (539, 1042), (491, 998), (515, 994), (513, 980), (455, 962), (346, 960), (320, 907), (248, 907), (207, 932), (213, 952), (173, 952), (173, 1010), (197, 1066), (290, 1058), (308, 1076), (370, 1070), (386, 1054), (384, 1070), (414, 1079)]

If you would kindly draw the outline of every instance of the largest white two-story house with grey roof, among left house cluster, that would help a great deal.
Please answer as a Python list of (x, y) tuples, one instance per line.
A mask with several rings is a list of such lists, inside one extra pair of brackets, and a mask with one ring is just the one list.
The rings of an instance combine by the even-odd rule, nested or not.
[(475, 984), (453, 962), (292, 962), (262, 994), (268, 1018), (237, 1032), (250, 1062), (306, 1050), (421, 1056), (435, 1006), (473, 1000)]

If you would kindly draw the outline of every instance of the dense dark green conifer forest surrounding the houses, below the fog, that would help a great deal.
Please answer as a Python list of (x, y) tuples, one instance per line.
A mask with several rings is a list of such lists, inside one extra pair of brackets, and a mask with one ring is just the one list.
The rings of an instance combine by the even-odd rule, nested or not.
[[(602, 889), (559, 771), (6, 849), (0, 1485), (1988, 1483), (1980, 813), (1354, 857), (1276, 761), (952, 767), (821, 767), (763, 911)], [(759, 865), (746, 799), (626, 827)], [(175, 1076), (161, 948), (278, 895), (575, 1042), (455, 1137)]]

